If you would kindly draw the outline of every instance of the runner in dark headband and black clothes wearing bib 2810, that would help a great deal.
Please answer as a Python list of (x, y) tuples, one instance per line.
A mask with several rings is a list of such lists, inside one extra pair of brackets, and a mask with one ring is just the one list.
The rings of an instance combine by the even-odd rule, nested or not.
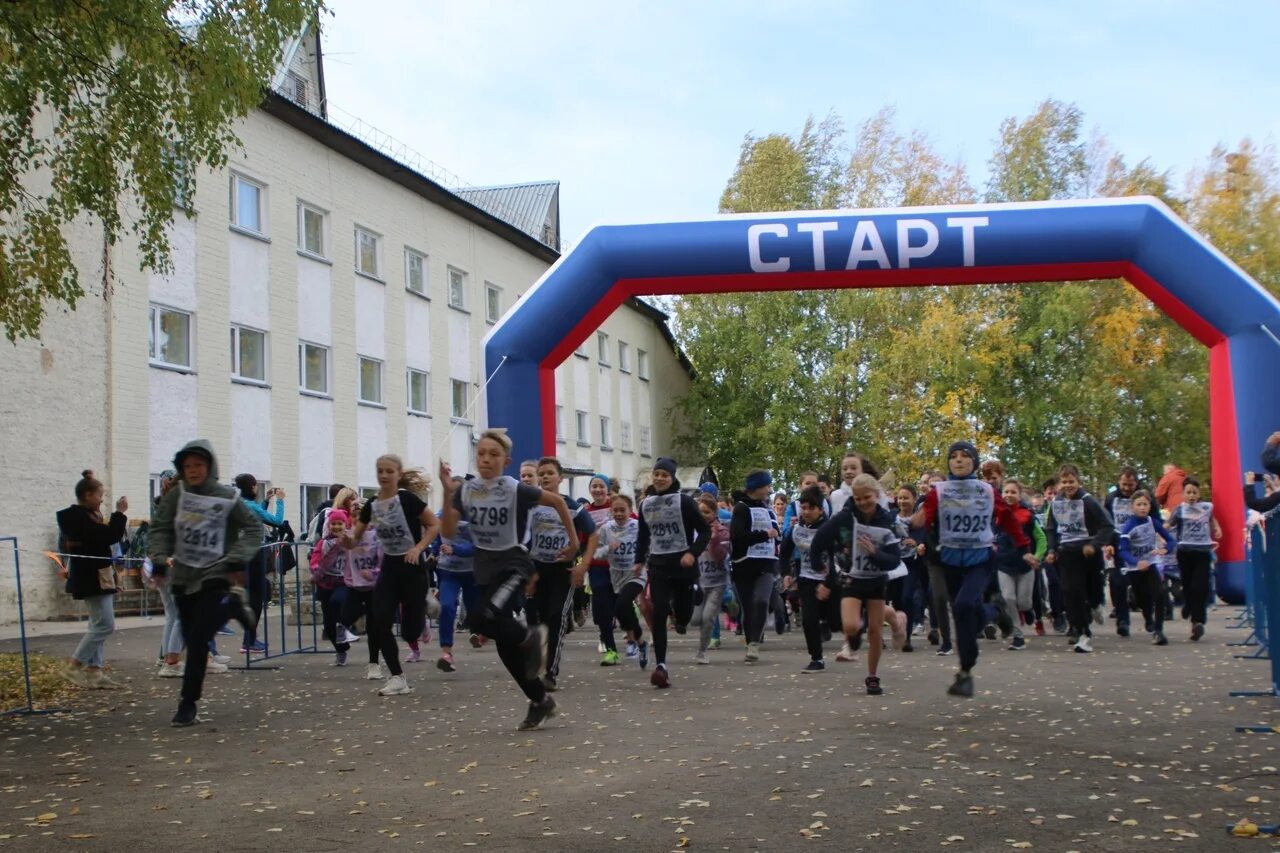
[(698, 511), (698, 503), (680, 492), (676, 460), (659, 457), (653, 464), (653, 485), (640, 503), (640, 532), (636, 537), (636, 564), (649, 571), (649, 597), (653, 599), (649, 626), (657, 666), (649, 681), (655, 688), (671, 686), (667, 617), (675, 612), (678, 633), (689, 625), (694, 613), (698, 557), (707, 549), (709, 538), (710, 528)]

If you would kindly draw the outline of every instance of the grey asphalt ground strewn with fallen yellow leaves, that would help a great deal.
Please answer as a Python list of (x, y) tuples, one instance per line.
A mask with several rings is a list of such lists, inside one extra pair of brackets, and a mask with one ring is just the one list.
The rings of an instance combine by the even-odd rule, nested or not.
[[(1171, 644), (1098, 629), (1012, 652), (982, 640), (973, 699), (946, 695), (955, 657), (918, 638), (887, 652), (884, 695), (864, 657), (801, 675), (799, 630), (746, 663), (724, 635), (695, 666), (673, 637), (672, 688), (636, 663), (600, 667), (571, 634), (561, 713), (521, 733), (525, 702), (492, 647), (460, 671), (407, 665), (413, 693), (380, 698), (352, 665), (296, 654), (211, 675), (201, 716), (174, 729), (178, 681), (152, 675), (159, 628), (118, 631), (129, 680), (73, 711), (0, 720), (0, 848), (86, 850), (1140, 850), (1262, 848), (1228, 824), (1280, 821), (1276, 701), (1266, 661), (1236, 660), (1234, 610)], [(41, 637), (67, 654), (76, 637)], [(461, 638), (465, 640), (465, 635)], [(13, 642), (0, 649), (13, 651)], [(1245, 649), (1252, 651), (1252, 649)]]

